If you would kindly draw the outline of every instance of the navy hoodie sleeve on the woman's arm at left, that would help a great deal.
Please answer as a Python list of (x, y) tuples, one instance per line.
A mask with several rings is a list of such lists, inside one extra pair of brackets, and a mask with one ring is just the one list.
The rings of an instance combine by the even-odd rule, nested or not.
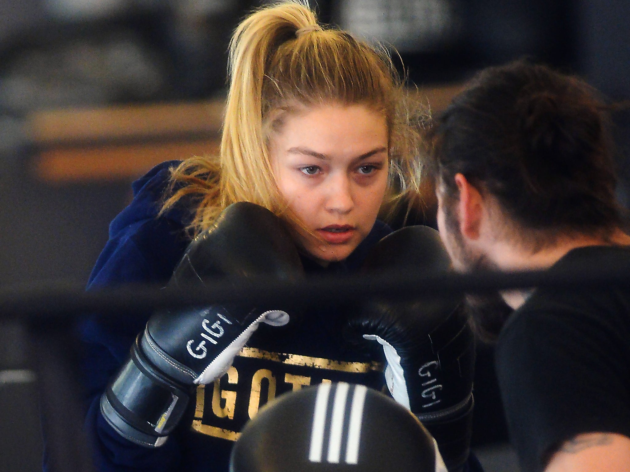
[[(167, 219), (146, 218), (111, 237), (99, 257), (88, 289), (123, 283), (166, 283), (185, 250), (183, 227)], [(153, 472), (177, 469), (180, 447), (171, 435), (151, 449), (124, 439), (100, 412), (100, 396), (129, 356), (149, 311), (90, 315), (79, 326), (83, 344), (83, 381), (88, 413), (86, 430), (92, 439), (98, 471)]]

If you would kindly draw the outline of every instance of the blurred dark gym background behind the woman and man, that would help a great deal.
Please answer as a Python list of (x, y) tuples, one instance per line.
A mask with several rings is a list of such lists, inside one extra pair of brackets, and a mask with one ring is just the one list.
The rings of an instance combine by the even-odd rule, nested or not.
[[(0, 0), (0, 287), (86, 281), (130, 183), (217, 149), (232, 29), (256, 0)], [(626, 0), (319, 0), (321, 21), (396, 48), (437, 113), (482, 67), (530, 57), (630, 98)], [(628, 113), (617, 115), (627, 205)], [(414, 222), (433, 224), (430, 190)], [(0, 321), (0, 472), (41, 468), (37, 343)], [(42, 372), (41, 370), (39, 371)], [(473, 446), (517, 471), (491, 346)]]

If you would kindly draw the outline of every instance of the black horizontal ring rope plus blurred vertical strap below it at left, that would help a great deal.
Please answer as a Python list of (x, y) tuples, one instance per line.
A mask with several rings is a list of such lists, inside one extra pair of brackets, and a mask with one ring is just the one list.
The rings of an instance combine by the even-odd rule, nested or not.
[(73, 322), (89, 313), (123, 317), (130, 313), (238, 301), (253, 306), (313, 305), (369, 298), (410, 300), (422, 296), (488, 292), (497, 289), (551, 287), (630, 289), (630, 264), (583, 266), (571, 271), (427, 273), (404, 267), (381, 274), (331, 274), (278, 280), (272, 276), (207, 280), (206, 286), (163, 288), (124, 285), (84, 290), (84, 284), (40, 282), (0, 288), (0, 320), (25, 323), (35, 346), (42, 427), (52, 472), (94, 471), (83, 430), (81, 386), (76, 372)]

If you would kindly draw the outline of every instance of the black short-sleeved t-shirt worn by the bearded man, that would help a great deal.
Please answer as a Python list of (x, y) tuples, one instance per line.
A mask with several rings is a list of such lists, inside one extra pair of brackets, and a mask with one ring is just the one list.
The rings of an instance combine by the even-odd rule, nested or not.
[[(571, 250), (552, 267), (630, 267), (630, 247)], [(629, 288), (538, 288), (501, 330), (496, 369), (524, 471), (585, 432), (630, 436)]]

